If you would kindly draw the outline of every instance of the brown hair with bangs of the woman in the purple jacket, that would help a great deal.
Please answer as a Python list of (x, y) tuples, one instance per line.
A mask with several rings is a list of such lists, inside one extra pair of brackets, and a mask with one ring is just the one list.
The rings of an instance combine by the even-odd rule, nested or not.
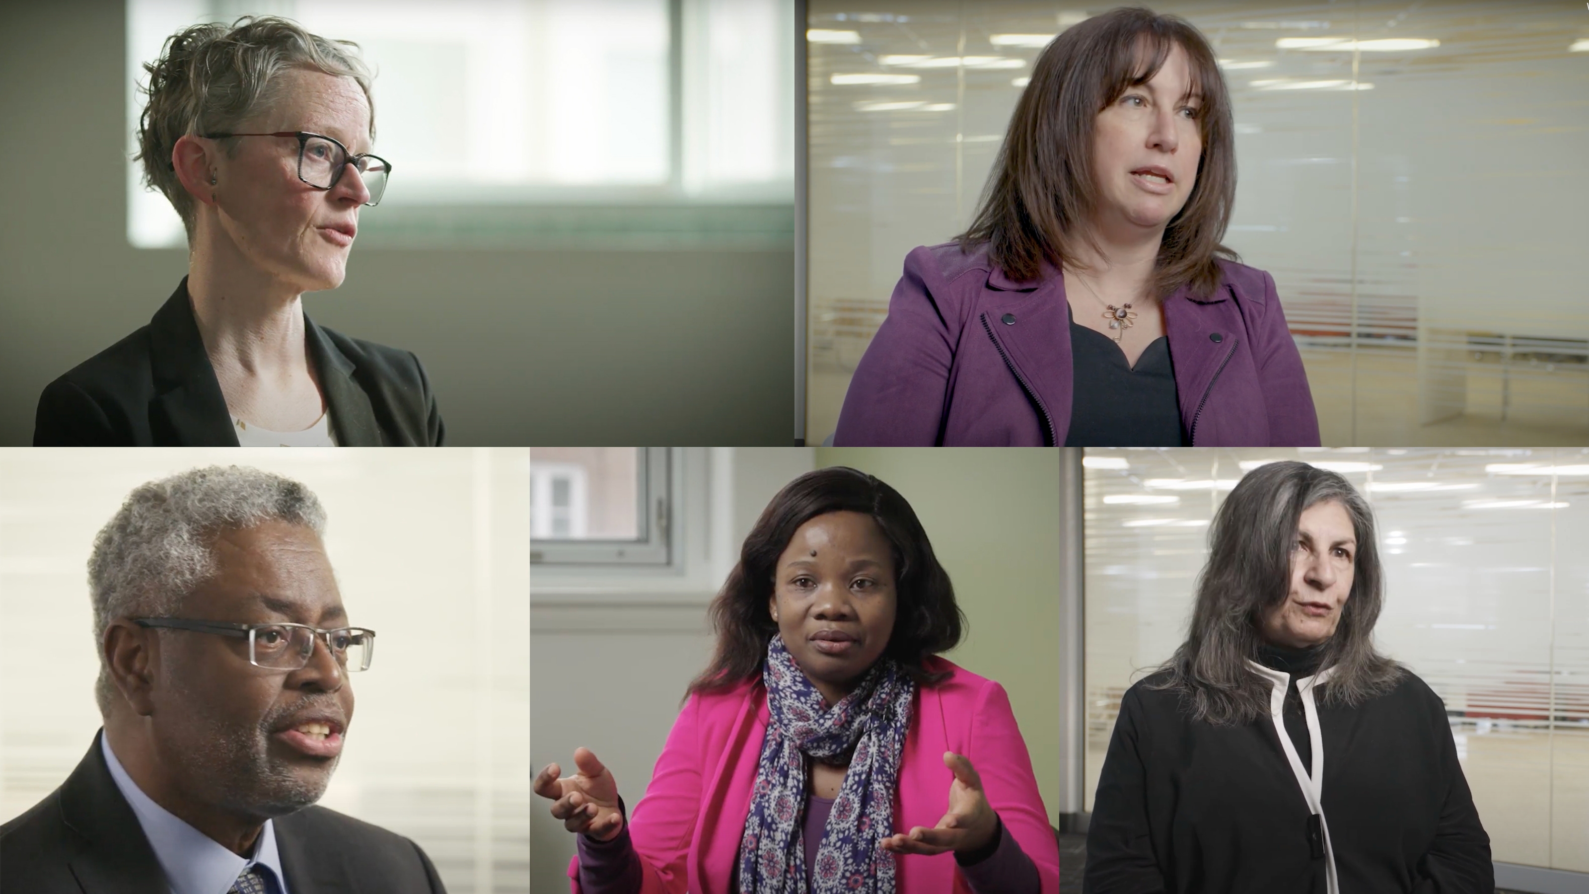
[(1216, 256), (1238, 259), (1220, 245), (1236, 200), (1230, 92), (1197, 27), (1141, 6), (1076, 24), (1038, 57), (993, 162), (982, 207), (957, 237), (961, 248), (985, 243), (993, 264), (1017, 282), (1036, 280), (1044, 261), (1060, 267), (1061, 259), (1076, 258), (1079, 243), (1098, 250), (1092, 227), (1098, 208), (1092, 157), (1098, 113), (1127, 89), (1150, 81), (1174, 46), (1187, 54), (1192, 95), (1201, 97), (1197, 119), (1203, 156), (1187, 204), (1165, 227), (1150, 288), (1155, 297), (1187, 283), (1197, 296), (1211, 294), (1220, 282)]

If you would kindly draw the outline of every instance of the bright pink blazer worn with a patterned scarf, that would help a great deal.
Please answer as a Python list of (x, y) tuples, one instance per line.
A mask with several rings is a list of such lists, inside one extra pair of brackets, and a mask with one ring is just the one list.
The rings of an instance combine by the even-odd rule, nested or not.
[[(918, 687), (912, 700), (895, 832), (938, 826), (953, 781), (944, 752), (965, 754), (982, 776), (988, 803), (1036, 864), (1042, 894), (1058, 894), (1060, 849), (1004, 687), (942, 659), (930, 659), (928, 668), (950, 676)], [(629, 814), (644, 894), (731, 894), (766, 730), (767, 690), (760, 679), (685, 703), (651, 784)], [(953, 854), (895, 859), (901, 894), (971, 894)], [(569, 878), (580, 894), (578, 857), (569, 864)]]

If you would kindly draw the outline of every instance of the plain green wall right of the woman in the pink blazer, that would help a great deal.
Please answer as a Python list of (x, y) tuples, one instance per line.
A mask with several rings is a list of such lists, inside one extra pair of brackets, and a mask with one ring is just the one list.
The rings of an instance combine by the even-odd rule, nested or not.
[(955, 582), (971, 636), (945, 657), (1009, 692), (1055, 822), (1060, 783), (1060, 452), (818, 447), (903, 493)]

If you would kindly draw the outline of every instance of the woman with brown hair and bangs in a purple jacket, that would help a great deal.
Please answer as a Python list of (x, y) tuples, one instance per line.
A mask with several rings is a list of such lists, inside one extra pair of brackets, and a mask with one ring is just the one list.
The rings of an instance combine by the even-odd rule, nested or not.
[(1274, 280), (1219, 242), (1233, 132), (1184, 19), (1055, 38), (971, 227), (906, 258), (834, 442), (1317, 445)]

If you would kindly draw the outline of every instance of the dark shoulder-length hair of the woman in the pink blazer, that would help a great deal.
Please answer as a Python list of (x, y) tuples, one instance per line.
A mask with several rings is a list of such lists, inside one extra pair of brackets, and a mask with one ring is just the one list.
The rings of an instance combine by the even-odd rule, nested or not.
[(801, 525), (829, 512), (871, 515), (893, 552), (893, 633), (883, 657), (895, 659), (917, 684), (936, 682), (925, 662), (960, 643), (966, 617), (955, 604), (949, 573), (933, 555), (922, 522), (899, 492), (847, 466), (806, 472), (791, 480), (756, 519), (739, 552), (739, 565), (712, 600), (709, 616), (717, 633), (712, 663), (690, 684), (690, 692), (729, 689), (761, 676), (767, 643), (779, 625), (767, 614), (779, 557)]

